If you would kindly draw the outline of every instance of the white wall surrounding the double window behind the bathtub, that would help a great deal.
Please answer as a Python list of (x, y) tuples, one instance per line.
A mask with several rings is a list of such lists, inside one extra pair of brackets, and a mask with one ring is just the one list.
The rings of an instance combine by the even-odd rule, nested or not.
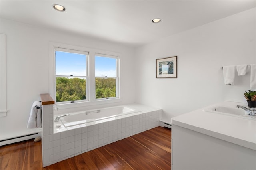
[(6, 34), (7, 116), (0, 117), (0, 138), (33, 132), (27, 128), (32, 103), (40, 93), (49, 93), (49, 42), (66, 43), (122, 53), (122, 103), (135, 101), (134, 48), (92, 38), (48, 30), (1, 19), (1, 33)]

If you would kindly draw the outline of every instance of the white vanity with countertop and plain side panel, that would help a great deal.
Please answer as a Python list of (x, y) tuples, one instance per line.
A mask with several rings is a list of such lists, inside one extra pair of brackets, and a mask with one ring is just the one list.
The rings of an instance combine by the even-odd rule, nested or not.
[(256, 170), (256, 116), (222, 102), (172, 118), (172, 170)]

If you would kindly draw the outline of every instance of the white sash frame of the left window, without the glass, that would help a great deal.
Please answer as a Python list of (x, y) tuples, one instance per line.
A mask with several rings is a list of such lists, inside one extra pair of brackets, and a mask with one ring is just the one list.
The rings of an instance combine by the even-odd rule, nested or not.
[[(65, 104), (65, 103), (76, 103), (76, 102), (83, 102), (83, 101), (89, 101), (88, 100), (88, 57), (89, 57), (89, 52), (86, 51), (78, 51), (78, 50), (73, 50), (73, 49), (66, 49), (66, 48), (60, 48), (60, 47), (55, 47), (54, 48), (54, 58), (55, 58), (55, 51), (61, 51), (61, 52), (66, 52), (66, 53), (76, 53), (76, 54), (83, 54), (86, 55), (86, 75), (85, 76), (76, 76), (76, 75), (56, 75), (56, 63), (54, 64), (54, 71), (55, 71), (55, 79), (54, 79), (54, 91), (55, 91), (55, 103), (58, 104)], [(56, 61), (56, 60), (54, 60)], [(85, 78), (86, 79), (86, 99), (84, 100), (75, 100), (75, 101), (62, 101), (62, 102), (56, 102), (56, 77), (70, 77), (70, 78)]]

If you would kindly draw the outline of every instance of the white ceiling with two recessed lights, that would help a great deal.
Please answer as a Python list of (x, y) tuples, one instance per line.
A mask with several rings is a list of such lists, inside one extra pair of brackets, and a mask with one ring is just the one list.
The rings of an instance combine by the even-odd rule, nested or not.
[(0, 0), (0, 17), (138, 46), (254, 7), (256, 0)]

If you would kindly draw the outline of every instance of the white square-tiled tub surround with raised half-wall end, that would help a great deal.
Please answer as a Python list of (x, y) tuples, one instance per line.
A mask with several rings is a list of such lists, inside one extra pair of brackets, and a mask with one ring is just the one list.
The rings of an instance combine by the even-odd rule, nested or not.
[(149, 109), (130, 117), (120, 117), (86, 127), (78, 125), (57, 133), (53, 133), (53, 105), (43, 105), (42, 113), (42, 154), (45, 167), (158, 127), (162, 110)]

